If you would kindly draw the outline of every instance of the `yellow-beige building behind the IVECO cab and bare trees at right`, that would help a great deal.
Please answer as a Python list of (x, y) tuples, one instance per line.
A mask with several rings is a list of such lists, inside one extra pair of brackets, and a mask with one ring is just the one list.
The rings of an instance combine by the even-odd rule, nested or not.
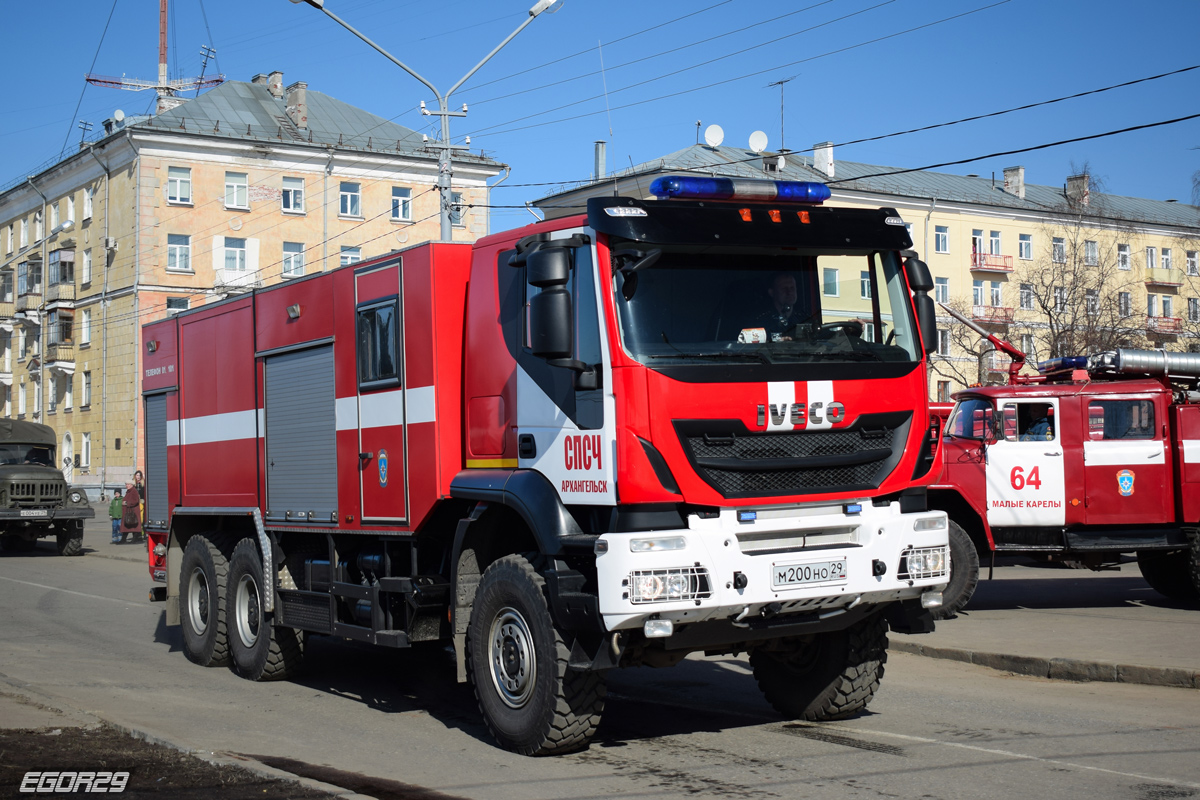
[[(896, 209), (935, 276), (935, 299), (1030, 362), (1114, 347), (1200, 349), (1200, 207), (1102, 192), (1088, 175), (1046, 186), (1026, 184), (1022, 167), (989, 176), (901, 173), (835, 161), (833, 150), (695, 145), (534, 205), (553, 217), (595, 194), (648, 198), (650, 181), (667, 174), (821, 181), (830, 205)], [(856, 299), (869, 296), (858, 283), (857, 270), (824, 270), (823, 303), (853, 317)], [(930, 363), (931, 399), (949, 399), (1006, 380), (1009, 360), (942, 314)]]

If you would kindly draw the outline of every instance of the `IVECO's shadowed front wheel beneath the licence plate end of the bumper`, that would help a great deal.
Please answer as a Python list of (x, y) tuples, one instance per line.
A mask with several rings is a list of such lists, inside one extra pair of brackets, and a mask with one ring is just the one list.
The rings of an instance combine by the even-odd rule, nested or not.
[(767, 702), (788, 720), (844, 720), (871, 702), (887, 650), (887, 621), (875, 614), (788, 651), (756, 649), (750, 666)]

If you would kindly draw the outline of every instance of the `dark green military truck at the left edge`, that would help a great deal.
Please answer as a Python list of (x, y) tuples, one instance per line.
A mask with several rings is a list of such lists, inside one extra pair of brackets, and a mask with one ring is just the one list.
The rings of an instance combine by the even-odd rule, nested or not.
[(59, 555), (83, 554), (83, 521), (96, 512), (55, 468), (55, 441), (49, 426), (0, 420), (0, 547), (6, 552), (31, 551), (38, 539), (54, 536)]

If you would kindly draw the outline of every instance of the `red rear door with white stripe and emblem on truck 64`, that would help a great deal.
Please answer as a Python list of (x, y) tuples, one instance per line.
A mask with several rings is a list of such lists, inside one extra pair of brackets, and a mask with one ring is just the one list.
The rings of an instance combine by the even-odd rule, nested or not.
[(1154, 524), (1175, 518), (1163, 409), (1153, 396), (1087, 399), (1084, 482), (1090, 525)]

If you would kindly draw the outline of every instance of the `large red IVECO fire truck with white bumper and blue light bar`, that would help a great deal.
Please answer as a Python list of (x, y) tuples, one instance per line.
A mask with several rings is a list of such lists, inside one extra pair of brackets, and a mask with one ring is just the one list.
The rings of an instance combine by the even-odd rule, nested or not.
[(443, 640), (527, 754), (587, 745), (607, 669), (696, 651), (790, 717), (863, 709), (949, 569), (929, 271), (822, 185), (654, 193), (146, 325), (185, 655), (265, 680), (313, 633)]

